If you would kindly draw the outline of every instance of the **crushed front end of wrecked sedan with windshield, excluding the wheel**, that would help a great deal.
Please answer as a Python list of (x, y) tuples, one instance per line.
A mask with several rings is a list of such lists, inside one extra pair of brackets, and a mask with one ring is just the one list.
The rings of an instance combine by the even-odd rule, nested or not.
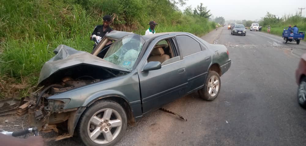
[[(119, 32), (119, 36), (120, 33), (128, 35)], [(115, 35), (118, 33), (110, 34)], [(103, 42), (95, 48), (99, 52), (91, 54), (59, 45), (54, 50), (56, 55), (41, 69), (38, 80), (41, 88), (24, 99), (17, 114), (28, 113), (30, 125), (40, 132), (58, 133), (50, 140), (72, 137), (85, 109), (102, 99), (118, 103), (125, 110), (127, 123), (133, 123), (135, 117), (142, 116), (139, 79), (132, 67), (143, 42), (132, 48), (135, 38), (140, 40), (139, 35), (132, 34), (123, 43), (122, 39), (115, 42), (103, 59), (97, 57)]]

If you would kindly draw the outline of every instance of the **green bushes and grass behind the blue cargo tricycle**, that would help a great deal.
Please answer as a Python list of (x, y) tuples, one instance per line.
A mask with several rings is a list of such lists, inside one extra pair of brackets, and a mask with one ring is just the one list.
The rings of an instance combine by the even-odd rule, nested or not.
[[(284, 27), (291, 25), (297, 25), (299, 32), (306, 32), (306, 17), (300, 16), (296, 13), (295, 15), (284, 15), (282, 18), (276, 17), (275, 15), (267, 12), (266, 16), (259, 23), (262, 27), (262, 31), (267, 33), (267, 27), (271, 26), (270, 33), (282, 36)], [(305, 39), (304, 39), (305, 41)]]

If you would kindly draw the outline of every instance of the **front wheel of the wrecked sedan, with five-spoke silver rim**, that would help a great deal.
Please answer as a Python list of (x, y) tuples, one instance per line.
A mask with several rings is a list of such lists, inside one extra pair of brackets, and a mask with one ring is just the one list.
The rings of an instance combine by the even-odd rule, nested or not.
[[(106, 117), (105, 119), (103, 119), (104, 116)], [(121, 140), (125, 134), (126, 126), (127, 117), (125, 110), (114, 101), (100, 100), (93, 103), (84, 111), (80, 117), (77, 131), (81, 140), (87, 146), (111, 146)], [(100, 132), (97, 133), (99, 137), (97, 136), (93, 138), (94, 140), (91, 140), (89, 135), (94, 133), (96, 129), (97, 132)], [(109, 141), (106, 140), (106, 135), (110, 138)]]

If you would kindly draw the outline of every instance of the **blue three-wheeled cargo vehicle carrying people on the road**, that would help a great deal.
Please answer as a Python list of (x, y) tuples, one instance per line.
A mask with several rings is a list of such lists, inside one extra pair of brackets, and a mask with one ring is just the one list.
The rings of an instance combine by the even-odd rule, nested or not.
[(305, 32), (293, 33), (291, 29), (288, 30), (289, 27), (285, 27), (282, 37), (284, 39), (284, 43), (296, 41), (297, 44), (300, 43), (300, 40), (304, 40)]

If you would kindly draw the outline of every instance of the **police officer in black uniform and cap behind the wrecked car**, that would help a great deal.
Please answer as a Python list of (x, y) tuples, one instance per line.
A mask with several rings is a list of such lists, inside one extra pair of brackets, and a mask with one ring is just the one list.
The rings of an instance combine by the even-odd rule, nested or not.
[[(100, 36), (101, 38), (103, 38), (106, 34), (113, 31), (113, 29), (110, 27), (110, 23), (111, 23), (111, 16), (110, 15), (103, 16), (103, 25), (97, 25), (94, 28), (94, 31), (91, 33), (90, 40), (92, 40), (92, 35)], [(108, 42), (106, 45), (110, 43), (111, 41)], [(93, 46), (95, 48), (96, 44), (93, 44)]]

